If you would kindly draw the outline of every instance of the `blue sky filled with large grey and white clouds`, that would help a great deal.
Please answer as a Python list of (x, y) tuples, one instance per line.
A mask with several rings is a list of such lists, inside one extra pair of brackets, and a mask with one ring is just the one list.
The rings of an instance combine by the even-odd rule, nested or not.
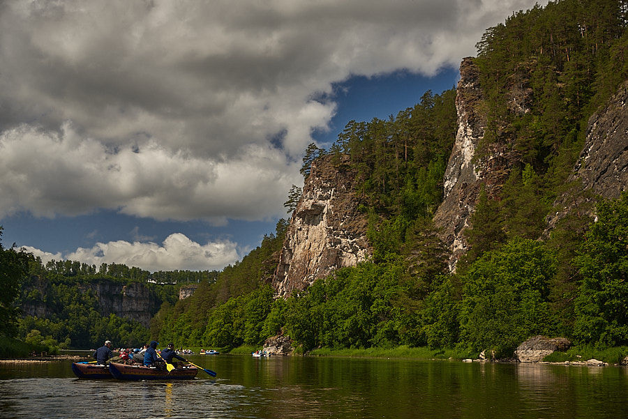
[(287, 218), (309, 143), (451, 89), (484, 30), (532, 6), (5, 2), (2, 243), (148, 271), (233, 264)]

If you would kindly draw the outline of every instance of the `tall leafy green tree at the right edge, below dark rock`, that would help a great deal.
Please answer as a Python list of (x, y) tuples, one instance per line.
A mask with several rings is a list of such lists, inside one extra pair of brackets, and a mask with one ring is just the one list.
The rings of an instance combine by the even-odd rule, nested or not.
[(628, 344), (628, 192), (601, 201), (576, 264), (575, 335), (599, 348)]

